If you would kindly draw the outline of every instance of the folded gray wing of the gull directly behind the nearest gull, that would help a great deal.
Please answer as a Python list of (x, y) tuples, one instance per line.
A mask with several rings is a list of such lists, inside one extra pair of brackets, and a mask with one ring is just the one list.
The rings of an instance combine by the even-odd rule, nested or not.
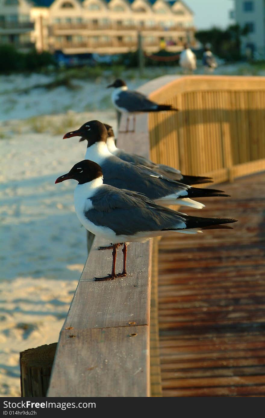
[(101, 168), (105, 184), (137, 191), (152, 200), (188, 189), (185, 184), (168, 179), (147, 167), (122, 161), (114, 155), (103, 162)]

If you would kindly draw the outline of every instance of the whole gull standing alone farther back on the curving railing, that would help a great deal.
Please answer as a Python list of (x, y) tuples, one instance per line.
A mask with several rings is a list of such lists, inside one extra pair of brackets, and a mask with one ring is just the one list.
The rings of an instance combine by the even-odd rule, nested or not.
[[(111, 101), (113, 106), (119, 112), (126, 112), (134, 114), (134, 129), (135, 131), (135, 114), (142, 112), (160, 112), (161, 110), (177, 111), (171, 104), (157, 104), (149, 100), (144, 94), (132, 90), (128, 90), (126, 83), (121, 79), (116, 79), (107, 88), (114, 87), (111, 94)], [(126, 122), (126, 131), (129, 132), (129, 116)]]

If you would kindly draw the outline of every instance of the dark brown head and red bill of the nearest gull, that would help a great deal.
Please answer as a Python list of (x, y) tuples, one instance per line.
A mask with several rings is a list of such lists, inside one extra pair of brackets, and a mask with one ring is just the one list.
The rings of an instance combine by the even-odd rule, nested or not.
[(55, 184), (61, 183), (64, 180), (69, 180), (70, 178), (78, 181), (78, 184), (84, 184), (102, 176), (103, 174), (101, 167), (97, 163), (94, 163), (94, 161), (90, 160), (83, 160), (75, 164), (69, 173), (58, 177), (55, 181)]

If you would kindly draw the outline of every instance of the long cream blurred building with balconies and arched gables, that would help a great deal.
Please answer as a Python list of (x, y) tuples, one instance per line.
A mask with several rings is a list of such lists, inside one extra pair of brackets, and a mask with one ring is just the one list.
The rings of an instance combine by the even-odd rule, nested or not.
[(0, 41), (64, 54), (147, 52), (194, 44), (193, 12), (180, 0), (0, 0)]

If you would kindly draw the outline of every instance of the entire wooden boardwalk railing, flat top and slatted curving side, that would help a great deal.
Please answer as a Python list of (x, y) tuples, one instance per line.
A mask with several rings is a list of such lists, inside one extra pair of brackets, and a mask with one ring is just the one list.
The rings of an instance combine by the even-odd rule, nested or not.
[[(165, 76), (140, 91), (180, 111), (137, 116), (135, 132), (119, 134), (120, 148), (216, 182), (265, 170), (263, 78)], [(125, 125), (122, 117), (121, 130)], [(93, 277), (110, 270), (111, 251), (98, 251), (95, 240), (60, 334), (48, 396), (139, 397), (149, 396), (150, 386), (161, 396), (157, 244), (130, 244), (127, 277), (100, 283)]]

